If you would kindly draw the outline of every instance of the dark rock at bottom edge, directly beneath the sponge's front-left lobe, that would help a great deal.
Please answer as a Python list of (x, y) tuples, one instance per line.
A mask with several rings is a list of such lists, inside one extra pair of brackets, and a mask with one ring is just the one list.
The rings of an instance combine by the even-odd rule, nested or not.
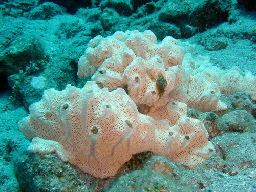
[[(55, 154), (17, 157), (14, 173), (23, 191), (102, 191), (112, 179), (100, 180), (64, 163)], [(44, 177), (42, 177), (44, 175)], [(104, 185), (104, 186), (103, 186)]]

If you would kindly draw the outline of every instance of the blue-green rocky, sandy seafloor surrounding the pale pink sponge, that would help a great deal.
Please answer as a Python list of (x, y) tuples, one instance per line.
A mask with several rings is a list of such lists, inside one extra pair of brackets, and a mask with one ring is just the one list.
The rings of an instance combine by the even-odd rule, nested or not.
[(88, 41), (119, 30), (150, 29), (159, 40), (173, 36), (181, 45), (193, 45), (195, 55), (210, 57), (212, 65), (256, 75), (255, 4), (238, 2), (0, 2), (0, 190), (256, 191), (256, 105), (247, 93), (222, 95), (228, 105), (223, 112), (188, 110), (188, 116), (203, 121), (216, 150), (195, 170), (147, 152), (101, 180), (55, 154), (28, 152), (30, 141), (17, 126), (45, 89), (82, 87), (77, 61)]

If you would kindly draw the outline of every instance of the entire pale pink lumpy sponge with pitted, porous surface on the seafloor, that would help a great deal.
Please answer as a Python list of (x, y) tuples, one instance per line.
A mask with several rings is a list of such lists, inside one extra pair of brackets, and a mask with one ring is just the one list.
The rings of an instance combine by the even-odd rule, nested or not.
[(220, 94), (236, 91), (256, 99), (250, 72), (212, 67), (207, 57), (184, 55), (172, 37), (157, 44), (151, 31), (95, 37), (79, 60), (78, 76), (93, 82), (46, 90), (19, 127), (32, 139), (30, 151), (56, 152), (100, 178), (114, 176), (143, 151), (190, 168), (201, 165), (214, 146), (203, 123), (187, 117), (187, 106), (224, 110)]

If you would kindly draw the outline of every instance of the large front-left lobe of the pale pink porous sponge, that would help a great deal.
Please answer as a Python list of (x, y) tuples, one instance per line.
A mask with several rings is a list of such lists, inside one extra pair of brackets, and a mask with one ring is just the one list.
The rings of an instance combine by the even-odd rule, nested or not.
[(29, 139), (35, 137), (30, 151), (56, 152), (100, 178), (115, 175), (133, 154), (154, 144), (154, 120), (138, 113), (123, 89), (109, 92), (91, 81), (82, 89), (49, 89), (30, 113), (19, 123)]

